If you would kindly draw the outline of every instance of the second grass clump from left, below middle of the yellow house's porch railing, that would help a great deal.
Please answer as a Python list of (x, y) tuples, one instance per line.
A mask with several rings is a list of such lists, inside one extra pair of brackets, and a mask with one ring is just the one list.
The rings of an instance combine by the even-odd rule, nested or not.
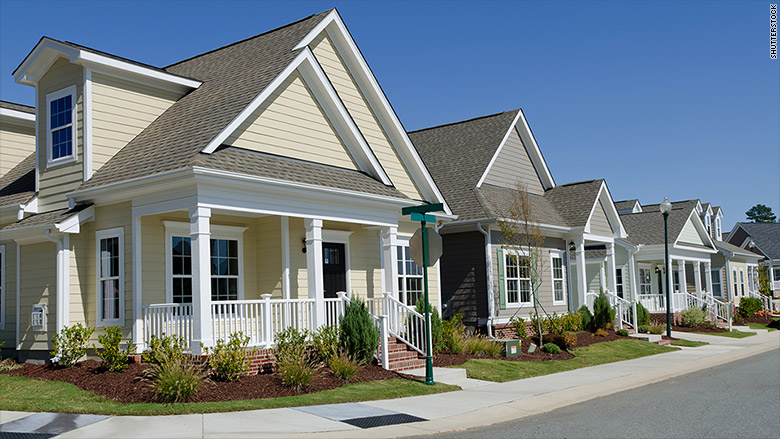
[(317, 362), (308, 349), (309, 332), (287, 328), (276, 334), (276, 370), (282, 384), (300, 391), (314, 380)]

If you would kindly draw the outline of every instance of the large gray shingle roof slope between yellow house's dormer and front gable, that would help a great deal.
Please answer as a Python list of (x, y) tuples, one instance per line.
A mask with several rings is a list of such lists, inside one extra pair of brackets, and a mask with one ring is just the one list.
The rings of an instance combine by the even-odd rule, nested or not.
[(173, 64), (202, 81), (122, 148), (79, 189), (185, 168), (300, 53), (293, 51), (330, 11)]

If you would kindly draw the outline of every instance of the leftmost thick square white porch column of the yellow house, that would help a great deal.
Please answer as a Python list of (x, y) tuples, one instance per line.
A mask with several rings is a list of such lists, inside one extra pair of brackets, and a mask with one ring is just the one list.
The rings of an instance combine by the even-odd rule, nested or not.
[(192, 251), (192, 345), (195, 355), (214, 345), (211, 333), (211, 209), (190, 208)]

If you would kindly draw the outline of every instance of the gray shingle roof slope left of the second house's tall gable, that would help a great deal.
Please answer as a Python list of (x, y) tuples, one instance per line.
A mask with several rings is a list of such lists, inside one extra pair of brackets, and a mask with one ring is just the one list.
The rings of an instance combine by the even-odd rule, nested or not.
[[(458, 215), (459, 221), (495, 217), (480, 202), (475, 190), (519, 111), (512, 110), (409, 133), (433, 181), (450, 209)], [(499, 196), (488, 190), (487, 197), (491, 195)]]

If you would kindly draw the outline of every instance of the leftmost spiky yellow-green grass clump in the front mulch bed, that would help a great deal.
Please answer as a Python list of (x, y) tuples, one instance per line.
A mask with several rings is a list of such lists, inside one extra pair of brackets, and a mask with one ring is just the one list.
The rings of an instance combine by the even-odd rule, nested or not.
[(144, 378), (151, 381), (155, 395), (162, 401), (187, 401), (195, 396), (206, 379), (203, 366), (183, 358), (169, 357), (163, 352), (155, 360), (156, 362), (144, 371)]

